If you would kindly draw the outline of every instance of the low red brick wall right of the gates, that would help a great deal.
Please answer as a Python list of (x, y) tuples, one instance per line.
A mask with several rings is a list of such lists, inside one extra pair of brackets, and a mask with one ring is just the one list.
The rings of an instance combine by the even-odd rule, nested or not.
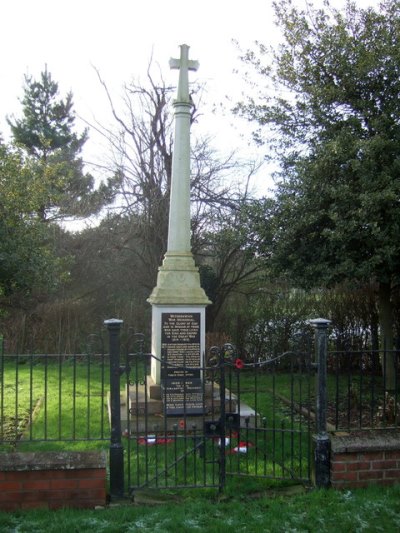
[(393, 438), (380, 440), (380, 446), (376, 436), (372, 442), (365, 437), (346, 447), (333, 444), (332, 486), (345, 489), (371, 484), (393, 485), (400, 482), (400, 445), (396, 446)]

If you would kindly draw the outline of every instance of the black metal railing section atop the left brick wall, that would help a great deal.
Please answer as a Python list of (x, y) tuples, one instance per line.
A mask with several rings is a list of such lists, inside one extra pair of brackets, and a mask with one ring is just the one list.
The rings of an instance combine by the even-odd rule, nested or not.
[(106, 354), (0, 354), (0, 445), (107, 441)]

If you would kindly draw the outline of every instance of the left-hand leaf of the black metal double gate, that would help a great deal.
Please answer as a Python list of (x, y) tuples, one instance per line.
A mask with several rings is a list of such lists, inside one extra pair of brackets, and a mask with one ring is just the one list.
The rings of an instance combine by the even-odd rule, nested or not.
[[(152, 362), (160, 365), (162, 374), (168, 369), (179, 371), (183, 382), (186, 378), (190, 382), (194, 371), (207, 376), (202, 380), (201, 391), (196, 391), (194, 407), (184, 388), (182, 405), (173, 409), (179, 414), (166, 414), (170, 402), (168, 391), (152, 382)], [(220, 476), (224, 469), (220, 464), (221, 452), (215, 445), (221, 430), (218, 400), (221, 367), (218, 362), (215, 366), (200, 368), (168, 363), (144, 352), (143, 336), (136, 334), (128, 341), (122, 369), (125, 490), (132, 496), (143, 487), (221, 488)]]

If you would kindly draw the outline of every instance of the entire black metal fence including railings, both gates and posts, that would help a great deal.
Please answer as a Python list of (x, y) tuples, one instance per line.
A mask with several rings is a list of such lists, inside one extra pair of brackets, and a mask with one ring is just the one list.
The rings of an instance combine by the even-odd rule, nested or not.
[[(329, 482), (329, 432), (400, 425), (398, 351), (329, 351), (329, 321), (312, 321), (315, 355), (241, 357), (214, 347), (200, 370), (201, 405), (179, 414), (149, 394), (142, 335), (121, 350), (122, 321), (106, 321), (109, 348), (91, 336), (83, 354), (5, 354), (0, 343), (0, 449), (77, 441), (109, 446), (110, 491), (219, 487), (227, 476)], [(170, 363), (158, 360), (161, 371)], [(193, 374), (184, 365), (183, 380)], [(168, 373), (168, 372), (167, 372)], [(164, 407), (163, 407), (164, 406)], [(155, 409), (155, 410), (154, 410)], [(312, 440), (314, 439), (314, 445)], [(314, 448), (314, 449), (313, 449)]]

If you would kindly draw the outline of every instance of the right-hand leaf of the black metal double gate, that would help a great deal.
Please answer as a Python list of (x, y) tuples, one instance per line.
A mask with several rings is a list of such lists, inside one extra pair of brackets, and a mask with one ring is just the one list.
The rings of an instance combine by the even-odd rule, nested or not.
[[(226, 350), (226, 348), (224, 348)], [(311, 357), (290, 351), (224, 365), (234, 425), (225, 428), (226, 475), (309, 483), (313, 429)]]

